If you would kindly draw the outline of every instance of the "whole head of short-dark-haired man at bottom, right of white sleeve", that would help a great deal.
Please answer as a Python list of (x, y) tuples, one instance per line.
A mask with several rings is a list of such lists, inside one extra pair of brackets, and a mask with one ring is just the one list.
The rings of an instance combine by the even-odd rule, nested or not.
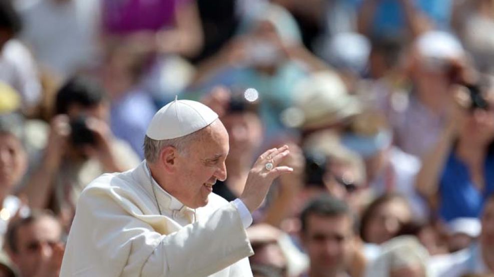
[(343, 277), (354, 253), (353, 217), (345, 202), (330, 196), (309, 202), (301, 214), (301, 240), (309, 256), (307, 277)]

